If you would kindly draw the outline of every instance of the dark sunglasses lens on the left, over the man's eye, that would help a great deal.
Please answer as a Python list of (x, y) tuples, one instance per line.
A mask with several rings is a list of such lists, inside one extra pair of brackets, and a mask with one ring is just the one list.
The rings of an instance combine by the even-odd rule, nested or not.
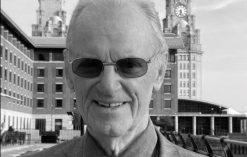
[(92, 78), (100, 75), (103, 64), (98, 59), (81, 58), (72, 63), (72, 69), (75, 74), (81, 77)]

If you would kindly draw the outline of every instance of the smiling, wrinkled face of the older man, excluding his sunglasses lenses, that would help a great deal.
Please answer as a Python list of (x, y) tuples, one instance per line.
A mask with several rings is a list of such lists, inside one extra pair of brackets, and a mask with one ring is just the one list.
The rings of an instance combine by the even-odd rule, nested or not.
[[(136, 57), (147, 61), (157, 46), (147, 19), (130, 7), (86, 8), (72, 33), (70, 60), (82, 57), (116, 62)], [(118, 137), (147, 121), (158, 75), (152, 61), (147, 73), (138, 78), (121, 77), (114, 66), (105, 66), (98, 77), (83, 78), (72, 73), (70, 67), (77, 106), (91, 134)], [(106, 108), (103, 104), (117, 107)]]

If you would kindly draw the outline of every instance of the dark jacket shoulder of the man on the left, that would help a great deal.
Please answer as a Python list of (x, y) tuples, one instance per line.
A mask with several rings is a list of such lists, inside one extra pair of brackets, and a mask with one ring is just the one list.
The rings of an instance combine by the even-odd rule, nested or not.
[(80, 152), (82, 152), (81, 148), (83, 140), (84, 137), (77, 137), (72, 140), (55, 145), (51, 148), (42, 150), (41, 152), (29, 153), (21, 157), (69, 157), (73, 156), (73, 154), (75, 153), (76, 155), (80, 154), (80, 156), (82, 156)]

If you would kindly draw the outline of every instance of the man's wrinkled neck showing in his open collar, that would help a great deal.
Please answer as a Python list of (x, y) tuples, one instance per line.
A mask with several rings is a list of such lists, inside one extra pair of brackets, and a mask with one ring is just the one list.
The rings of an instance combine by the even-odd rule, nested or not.
[(109, 137), (102, 135), (93, 135), (93, 137), (100, 144), (107, 155), (118, 156), (128, 147), (128, 145), (130, 145), (131, 142), (133, 142), (136, 137), (138, 137), (147, 128), (147, 125), (148, 119), (145, 119), (120, 137)]

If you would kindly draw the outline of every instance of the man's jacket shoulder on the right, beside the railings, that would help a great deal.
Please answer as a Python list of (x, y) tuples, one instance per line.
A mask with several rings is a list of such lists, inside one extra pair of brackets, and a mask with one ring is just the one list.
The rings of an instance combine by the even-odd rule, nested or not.
[(166, 139), (164, 135), (160, 133), (158, 129), (156, 129), (159, 141), (159, 148), (160, 148), (160, 157), (163, 156), (172, 156), (172, 157), (206, 157), (204, 155), (195, 153), (193, 151), (184, 149), (180, 146), (177, 146), (171, 143), (169, 140)]

